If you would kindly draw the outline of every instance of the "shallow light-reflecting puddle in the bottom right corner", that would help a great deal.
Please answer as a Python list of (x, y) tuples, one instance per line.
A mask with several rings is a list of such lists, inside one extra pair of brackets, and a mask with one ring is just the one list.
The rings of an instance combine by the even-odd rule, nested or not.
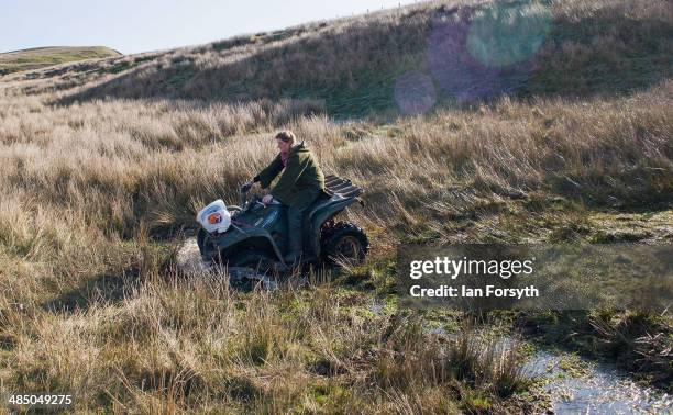
[(560, 367), (562, 355), (538, 351), (526, 364), (532, 377), (548, 379), (556, 414), (670, 414), (673, 397), (641, 386), (616, 368), (580, 359), (582, 374)]

